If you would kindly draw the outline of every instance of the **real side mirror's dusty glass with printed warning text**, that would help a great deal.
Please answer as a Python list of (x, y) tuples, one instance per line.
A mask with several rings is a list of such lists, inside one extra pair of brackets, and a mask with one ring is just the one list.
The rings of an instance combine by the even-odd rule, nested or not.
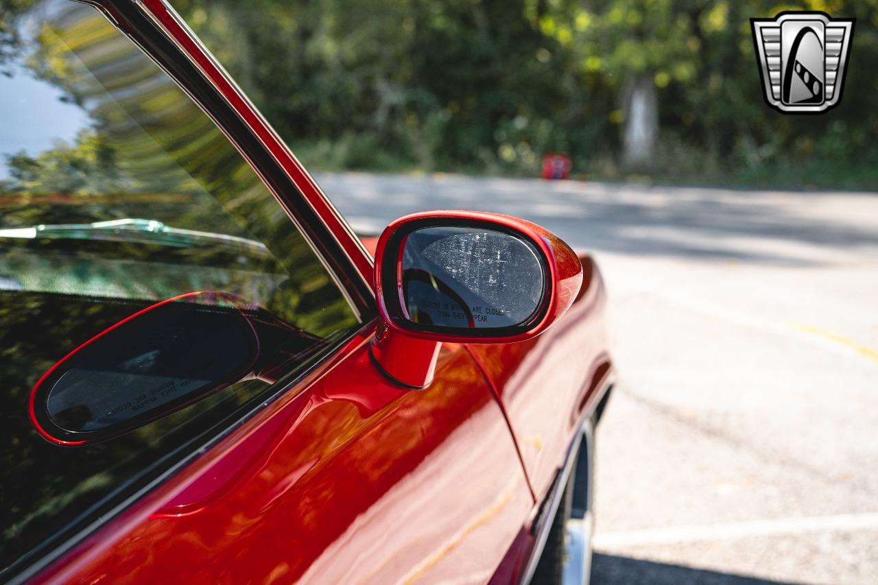
[(407, 235), (400, 266), (409, 321), (501, 329), (529, 321), (545, 290), (541, 256), (515, 235), (480, 227), (424, 227)]

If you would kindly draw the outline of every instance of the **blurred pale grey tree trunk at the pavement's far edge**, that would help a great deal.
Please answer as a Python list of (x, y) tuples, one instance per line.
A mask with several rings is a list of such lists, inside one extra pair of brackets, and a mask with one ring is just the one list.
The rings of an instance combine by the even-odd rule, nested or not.
[(632, 170), (651, 168), (659, 136), (659, 106), (652, 76), (637, 76), (625, 84), (623, 163)]

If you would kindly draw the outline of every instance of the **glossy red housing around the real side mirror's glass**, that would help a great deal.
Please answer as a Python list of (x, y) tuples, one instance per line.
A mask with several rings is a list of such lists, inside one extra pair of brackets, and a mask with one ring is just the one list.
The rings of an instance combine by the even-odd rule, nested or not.
[[(547, 261), (548, 273), (546, 275), (548, 286), (543, 302), (543, 317), (539, 321), (529, 326), (527, 331), (513, 336), (465, 336), (451, 335), (444, 333), (425, 332), (414, 329), (406, 329), (399, 323), (392, 320), (387, 306), (388, 297), (397, 297), (397, 288), (401, 278), (399, 278), (399, 270), (397, 278), (394, 282), (384, 282), (383, 266), (387, 262), (401, 263), (400, 249), (390, 249), (393, 235), (398, 231), (403, 232), (410, 228), (413, 224), (421, 224), (429, 220), (470, 220), (478, 221), (486, 228), (505, 227), (522, 235), (523, 238), (533, 243), (539, 249), (545, 260)], [(579, 293), (579, 287), (582, 284), (582, 264), (579, 263), (579, 257), (570, 249), (564, 241), (552, 234), (544, 227), (537, 226), (527, 220), (520, 220), (509, 215), (501, 215), (500, 213), (472, 212), (463, 210), (440, 210), (421, 213), (412, 213), (399, 220), (393, 221), (389, 226), (385, 227), (384, 232), (378, 238), (378, 248), (375, 252), (375, 296), (378, 301), (378, 313), (385, 322), (385, 327), (392, 333), (410, 336), (418, 339), (439, 342), (453, 343), (515, 343), (530, 339), (543, 333), (549, 329), (552, 323), (558, 321), (567, 309), (572, 305), (573, 300)]]

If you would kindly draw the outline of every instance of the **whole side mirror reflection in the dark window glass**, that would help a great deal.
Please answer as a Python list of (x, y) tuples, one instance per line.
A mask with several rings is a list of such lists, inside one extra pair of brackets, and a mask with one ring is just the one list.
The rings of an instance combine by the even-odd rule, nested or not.
[(104, 329), (49, 368), (31, 391), (31, 422), (51, 443), (95, 444), (243, 379), (275, 382), (291, 356), (325, 344), (232, 294), (182, 294)]

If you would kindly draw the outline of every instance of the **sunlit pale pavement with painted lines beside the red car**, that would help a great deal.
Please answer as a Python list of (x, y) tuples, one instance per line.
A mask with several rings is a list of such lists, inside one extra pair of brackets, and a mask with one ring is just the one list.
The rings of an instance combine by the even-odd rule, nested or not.
[(470, 208), (594, 250), (621, 375), (595, 583), (878, 582), (878, 194), (317, 180), (363, 231)]

